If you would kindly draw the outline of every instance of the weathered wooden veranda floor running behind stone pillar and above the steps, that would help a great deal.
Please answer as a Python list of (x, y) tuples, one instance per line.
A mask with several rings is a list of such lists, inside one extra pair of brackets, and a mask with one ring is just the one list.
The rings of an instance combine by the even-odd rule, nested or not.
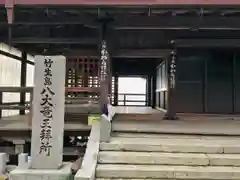
[[(163, 120), (165, 112), (150, 107), (116, 107), (113, 131), (150, 133), (196, 133), (240, 135), (239, 115), (178, 114), (180, 120)], [(0, 119), (2, 132), (31, 131), (29, 116), (11, 116)], [(125, 121), (121, 121), (125, 119)], [(136, 121), (142, 120), (142, 121)], [(81, 122), (65, 122), (65, 132), (89, 131)]]

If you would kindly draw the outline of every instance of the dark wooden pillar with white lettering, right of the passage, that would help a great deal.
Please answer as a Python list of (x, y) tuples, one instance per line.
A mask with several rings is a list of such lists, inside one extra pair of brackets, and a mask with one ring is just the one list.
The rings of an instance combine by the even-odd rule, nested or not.
[(167, 113), (164, 119), (176, 120), (176, 48), (175, 42), (171, 41), (172, 51), (167, 59), (167, 78), (168, 78), (168, 103), (167, 103)]

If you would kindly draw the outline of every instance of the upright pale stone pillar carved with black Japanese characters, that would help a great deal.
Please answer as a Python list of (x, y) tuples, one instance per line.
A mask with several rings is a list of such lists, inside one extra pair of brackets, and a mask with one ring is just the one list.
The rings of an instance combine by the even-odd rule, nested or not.
[[(41, 92), (45, 88), (44, 85), (44, 59), (48, 58), (53, 61), (51, 71), (52, 85), (49, 87), (55, 95), (51, 97), (52, 118), (51, 136), (49, 145), (51, 145), (50, 155), (40, 153), (40, 126), (43, 123), (44, 116), (40, 112), (43, 108), (41, 99), (44, 95)], [(64, 56), (36, 56), (35, 57), (35, 76), (34, 76), (34, 96), (33, 96), (33, 119), (32, 119), (32, 140), (31, 140), (31, 156), (33, 169), (57, 169), (62, 164), (63, 151), (63, 129), (64, 129), (64, 97), (65, 97), (65, 68), (66, 58)], [(46, 90), (49, 94), (49, 91)]]

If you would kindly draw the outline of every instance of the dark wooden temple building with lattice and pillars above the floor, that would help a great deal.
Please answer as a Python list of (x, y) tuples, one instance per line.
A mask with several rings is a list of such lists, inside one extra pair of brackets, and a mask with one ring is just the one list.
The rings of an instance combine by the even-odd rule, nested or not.
[(22, 52), (0, 51), (21, 62), (21, 87), (0, 91), (21, 92), (19, 106), (0, 95), (0, 107), (25, 114), (27, 54), (41, 54), (67, 58), (66, 102), (95, 101), (105, 87), (102, 102), (118, 106), (118, 77), (142, 76), (146, 106), (165, 119), (239, 113), (239, 18), (237, 0), (0, 0), (0, 42)]

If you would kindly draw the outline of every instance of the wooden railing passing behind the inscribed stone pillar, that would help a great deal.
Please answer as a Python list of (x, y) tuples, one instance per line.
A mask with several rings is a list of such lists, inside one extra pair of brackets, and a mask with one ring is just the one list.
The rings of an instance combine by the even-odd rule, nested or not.
[[(99, 94), (100, 88), (92, 87), (66, 87), (68, 93), (84, 93), (88, 97), (65, 97), (65, 104), (87, 104), (99, 103), (99, 97), (91, 94)], [(19, 102), (3, 102), (3, 93), (30, 93), (30, 101), (25, 101), (24, 104)], [(30, 110), (33, 99), (33, 87), (0, 87), (0, 118), (2, 118), (2, 110)]]

